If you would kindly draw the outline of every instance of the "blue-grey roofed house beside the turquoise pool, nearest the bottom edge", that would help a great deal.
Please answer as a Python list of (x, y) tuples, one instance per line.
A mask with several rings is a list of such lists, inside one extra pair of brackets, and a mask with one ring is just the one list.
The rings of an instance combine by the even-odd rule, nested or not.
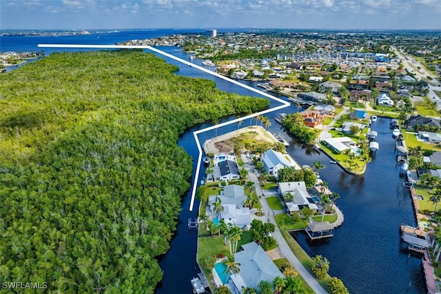
[(242, 293), (243, 288), (257, 289), (261, 281), (272, 283), (276, 277), (285, 277), (256, 242), (243, 244), (242, 250), (234, 253), (234, 260), (240, 264), (240, 272), (230, 276), (237, 290), (233, 293)]

